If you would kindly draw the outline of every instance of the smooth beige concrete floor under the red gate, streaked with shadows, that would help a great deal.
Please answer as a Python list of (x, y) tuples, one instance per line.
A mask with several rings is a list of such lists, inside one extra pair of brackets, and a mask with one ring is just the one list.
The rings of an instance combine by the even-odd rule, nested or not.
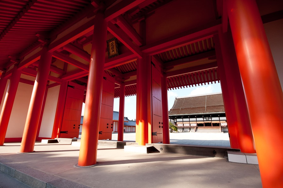
[(35, 152), (18, 154), (19, 147), (20, 143), (1, 146), (0, 163), (57, 187), (262, 187), (258, 165), (230, 163), (226, 158), (140, 154), (98, 146), (98, 165), (78, 168), (74, 165), (79, 147), (36, 143)]

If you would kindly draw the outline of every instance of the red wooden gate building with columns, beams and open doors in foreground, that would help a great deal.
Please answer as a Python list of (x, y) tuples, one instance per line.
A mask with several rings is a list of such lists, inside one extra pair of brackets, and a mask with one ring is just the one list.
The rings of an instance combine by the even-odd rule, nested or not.
[(21, 142), (28, 153), (41, 139), (77, 137), (85, 102), (78, 166), (94, 165), (98, 139), (112, 135), (114, 97), (123, 141), (132, 95), (138, 145), (170, 144), (167, 91), (220, 81), (231, 148), (257, 154), (263, 187), (283, 185), (283, 1), (0, 5), (0, 146)]

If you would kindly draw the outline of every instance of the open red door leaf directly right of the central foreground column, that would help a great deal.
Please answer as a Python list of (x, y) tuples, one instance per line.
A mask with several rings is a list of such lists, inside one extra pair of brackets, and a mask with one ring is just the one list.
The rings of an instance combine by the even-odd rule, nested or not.
[(104, 73), (98, 139), (112, 139), (115, 79)]

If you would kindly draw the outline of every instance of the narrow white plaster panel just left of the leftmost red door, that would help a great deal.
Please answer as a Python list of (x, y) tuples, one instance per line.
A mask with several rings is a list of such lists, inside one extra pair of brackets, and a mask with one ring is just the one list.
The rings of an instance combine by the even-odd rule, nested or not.
[(48, 88), (39, 137), (51, 138), (60, 85)]

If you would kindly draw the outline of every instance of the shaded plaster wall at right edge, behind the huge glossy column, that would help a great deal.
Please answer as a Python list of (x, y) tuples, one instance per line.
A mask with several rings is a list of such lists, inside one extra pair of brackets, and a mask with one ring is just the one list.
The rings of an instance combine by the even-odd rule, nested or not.
[[(279, 76), (281, 88), (283, 87), (283, 19), (264, 24), (269, 46)], [(282, 89), (283, 90), (283, 89)]]

